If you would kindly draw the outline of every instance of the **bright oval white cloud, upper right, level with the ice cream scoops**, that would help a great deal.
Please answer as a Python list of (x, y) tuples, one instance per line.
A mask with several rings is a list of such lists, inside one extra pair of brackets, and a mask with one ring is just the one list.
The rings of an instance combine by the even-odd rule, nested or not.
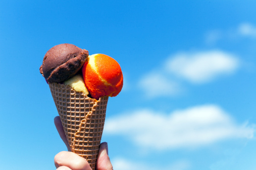
[(230, 74), (238, 66), (238, 59), (223, 51), (180, 53), (166, 63), (170, 73), (193, 83), (208, 82), (222, 74)]

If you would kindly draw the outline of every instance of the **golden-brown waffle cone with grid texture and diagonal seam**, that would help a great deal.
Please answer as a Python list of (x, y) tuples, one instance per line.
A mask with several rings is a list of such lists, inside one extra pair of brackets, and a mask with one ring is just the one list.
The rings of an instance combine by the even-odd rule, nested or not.
[(94, 169), (109, 97), (91, 99), (60, 83), (49, 83), (72, 152)]

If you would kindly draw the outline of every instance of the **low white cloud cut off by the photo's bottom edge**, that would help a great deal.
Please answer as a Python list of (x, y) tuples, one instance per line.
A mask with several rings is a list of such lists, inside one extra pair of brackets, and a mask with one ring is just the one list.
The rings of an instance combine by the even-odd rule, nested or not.
[(190, 167), (190, 162), (187, 160), (178, 160), (175, 162), (172, 162), (171, 164), (167, 165), (166, 167), (163, 167), (161, 164), (153, 165), (149, 163), (142, 163), (142, 162), (133, 162), (130, 160), (127, 160), (125, 158), (114, 158), (112, 160), (112, 164), (114, 169), (117, 170), (141, 170), (141, 169), (150, 169), (150, 170), (158, 170), (158, 169), (163, 169), (163, 170), (169, 170), (169, 169), (175, 169), (175, 170), (185, 170), (189, 169)]

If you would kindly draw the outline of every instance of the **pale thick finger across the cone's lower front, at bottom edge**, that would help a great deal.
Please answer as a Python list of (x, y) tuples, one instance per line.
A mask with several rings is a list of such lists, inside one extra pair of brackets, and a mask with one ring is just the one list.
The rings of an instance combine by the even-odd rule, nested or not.
[(58, 170), (91, 170), (89, 163), (83, 157), (68, 151), (61, 151), (58, 153), (54, 158), (54, 163)]

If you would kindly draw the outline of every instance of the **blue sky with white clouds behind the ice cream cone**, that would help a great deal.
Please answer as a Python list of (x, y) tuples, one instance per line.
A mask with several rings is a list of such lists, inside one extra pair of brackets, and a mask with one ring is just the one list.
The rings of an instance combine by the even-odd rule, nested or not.
[(256, 2), (0, 2), (0, 163), (55, 169), (66, 150), (39, 73), (71, 43), (115, 58), (102, 141), (114, 169), (256, 169)]

